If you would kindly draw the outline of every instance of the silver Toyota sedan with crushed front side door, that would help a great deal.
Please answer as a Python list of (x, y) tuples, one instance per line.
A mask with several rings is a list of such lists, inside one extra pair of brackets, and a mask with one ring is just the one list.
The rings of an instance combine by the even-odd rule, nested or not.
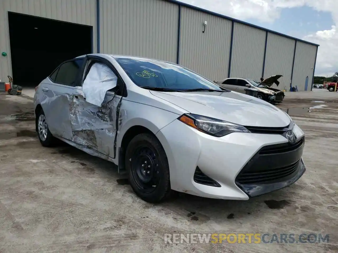
[(180, 65), (90, 54), (36, 88), (43, 146), (63, 140), (118, 165), (143, 200), (173, 191), (247, 200), (305, 172), (305, 137), (288, 114)]

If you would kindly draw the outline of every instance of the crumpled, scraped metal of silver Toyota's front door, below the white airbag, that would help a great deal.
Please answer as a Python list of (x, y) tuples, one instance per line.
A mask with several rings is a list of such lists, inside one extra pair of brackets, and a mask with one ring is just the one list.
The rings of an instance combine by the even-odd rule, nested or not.
[(107, 92), (101, 106), (83, 97), (82, 87), (75, 87), (70, 110), (72, 141), (114, 158), (116, 108), (120, 96)]

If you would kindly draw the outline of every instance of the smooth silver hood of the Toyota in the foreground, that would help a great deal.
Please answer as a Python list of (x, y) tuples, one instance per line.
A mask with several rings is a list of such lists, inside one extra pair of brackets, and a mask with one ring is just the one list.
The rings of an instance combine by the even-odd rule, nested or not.
[(281, 109), (234, 91), (150, 92), (190, 113), (244, 126), (284, 127), (290, 124), (289, 116)]

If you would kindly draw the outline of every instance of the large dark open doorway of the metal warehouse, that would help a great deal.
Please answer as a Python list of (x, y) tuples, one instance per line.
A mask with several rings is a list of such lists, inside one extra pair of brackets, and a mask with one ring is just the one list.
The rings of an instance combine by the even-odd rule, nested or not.
[(92, 26), (8, 12), (13, 82), (35, 87), (61, 62), (92, 53)]

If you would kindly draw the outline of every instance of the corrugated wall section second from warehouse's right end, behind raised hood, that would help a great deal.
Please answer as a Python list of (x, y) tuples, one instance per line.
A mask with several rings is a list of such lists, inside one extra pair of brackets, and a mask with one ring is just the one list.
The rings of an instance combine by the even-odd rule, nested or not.
[(277, 34), (268, 33), (265, 56), (264, 78), (273, 75), (282, 75), (280, 85), (272, 88), (289, 90), (295, 40)]

